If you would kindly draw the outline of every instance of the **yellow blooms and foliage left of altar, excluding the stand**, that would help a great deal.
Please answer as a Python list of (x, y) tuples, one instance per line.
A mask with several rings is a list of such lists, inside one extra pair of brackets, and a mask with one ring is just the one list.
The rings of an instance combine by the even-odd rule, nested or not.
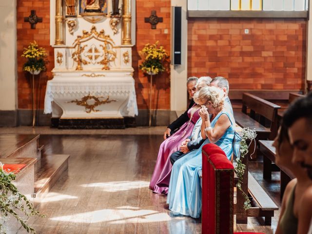
[(27, 72), (45, 71), (45, 60), (47, 56), (44, 48), (39, 47), (36, 41), (30, 42), (27, 48), (24, 48), (24, 52), (21, 57), (27, 59), (24, 63), (23, 70)]

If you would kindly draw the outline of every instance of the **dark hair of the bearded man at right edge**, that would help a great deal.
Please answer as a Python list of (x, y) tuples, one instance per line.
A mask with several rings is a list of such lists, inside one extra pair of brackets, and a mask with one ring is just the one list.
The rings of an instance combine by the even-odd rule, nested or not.
[(299, 118), (312, 120), (312, 92), (307, 97), (298, 98), (289, 106), (283, 116), (283, 124), (290, 128)]

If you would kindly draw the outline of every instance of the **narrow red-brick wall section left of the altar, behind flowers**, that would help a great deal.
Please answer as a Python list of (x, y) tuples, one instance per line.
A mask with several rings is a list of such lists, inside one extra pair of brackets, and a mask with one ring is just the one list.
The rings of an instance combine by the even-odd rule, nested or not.
[[(24, 22), (24, 17), (30, 15), (31, 10), (36, 10), (38, 17), (42, 17), (42, 22), (37, 23), (36, 29), (30, 28), (30, 23)], [(54, 54), (50, 46), (50, 1), (49, 0), (17, 0), (17, 54), (18, 54), (18, 103), (19, 109), (31, 109), (31, 88), (30, 75), (23, 72), (24, 58), (20, 56), (23, 48), (27, 47), (29, 42), (37, 41), (40, 47), (46, 49), (48, 57), (47, 71), (40, 74), (41, 88), (38, 92), (40, 108), (44, 106), (44, 94), (46, 81), (52, 78), (51, 70), (54, 67)], [(38, 79), (39, 76), (36, 76)], [(38, 84), (37, 80), (37, 84)], [(37, 98), (36, 98), (37, 99)], [(37, 102), (37, 100), (36, 100)]]

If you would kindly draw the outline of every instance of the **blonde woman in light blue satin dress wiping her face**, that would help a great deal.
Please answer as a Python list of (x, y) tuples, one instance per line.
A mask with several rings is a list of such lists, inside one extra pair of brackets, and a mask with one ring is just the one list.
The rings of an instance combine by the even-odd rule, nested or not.
[[(203, 87), (195, 96), (202, 105), (201, 135), (206, 139), (201, 147), (178, 159), (173, 166), (167, 203), (175, 214), (198, 218), (201, 213), (201, 185), (198, 171), (202, 167), (201, 149), (207, 143), (218, 145), (231, 160), (234, 127), (224, 108), (223, 94), (215, 87)], [(209, 114), (211, 118), (209, 119)]]

